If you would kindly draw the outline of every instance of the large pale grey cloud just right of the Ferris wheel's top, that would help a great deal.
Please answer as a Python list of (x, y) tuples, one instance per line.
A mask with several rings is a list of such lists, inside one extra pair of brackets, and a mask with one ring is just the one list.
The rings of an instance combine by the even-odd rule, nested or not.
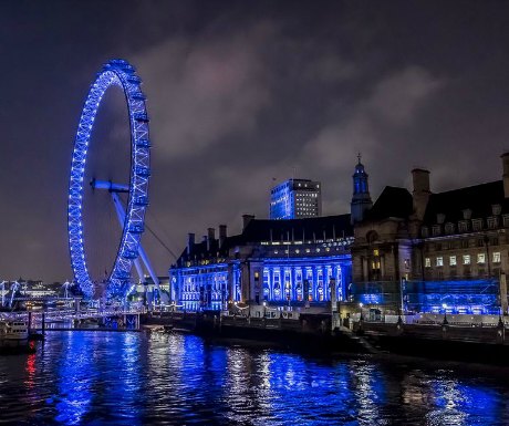
[(193, 156), (256, 129), (258, 114), (270, 103), (260, 50), (272, 38), (270, 24), (254, 24), (235, 38), (165, 40), (133, 58), (150, 82), (159, 159)]

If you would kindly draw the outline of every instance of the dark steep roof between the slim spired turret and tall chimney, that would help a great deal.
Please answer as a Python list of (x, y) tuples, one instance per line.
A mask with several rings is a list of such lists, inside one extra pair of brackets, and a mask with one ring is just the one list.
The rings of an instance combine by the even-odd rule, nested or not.
[(413, 199), (406, 188), (386, 186), (373, 207), (366, 212), (365, 220), (382, 220), (389, 217), (407, 218), (413, 212)]

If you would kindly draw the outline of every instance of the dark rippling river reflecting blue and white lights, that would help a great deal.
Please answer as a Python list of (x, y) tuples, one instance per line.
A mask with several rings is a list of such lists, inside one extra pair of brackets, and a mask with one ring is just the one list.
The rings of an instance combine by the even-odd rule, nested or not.
[(509, 425), (509, 370), (50, 332), (0, 357), (7, 425)]

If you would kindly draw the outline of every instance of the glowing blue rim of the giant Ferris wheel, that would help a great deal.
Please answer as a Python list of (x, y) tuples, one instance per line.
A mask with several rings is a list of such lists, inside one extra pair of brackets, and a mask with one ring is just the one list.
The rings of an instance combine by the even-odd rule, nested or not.
[(104, 93), (112, 85), (125, 94), (131, 127), (131, 176), (126, 215), (118, 251), (107, 278), (107, 295), (118, 297), (131, 283), (131, 269), (138, 257), (144, 219), (148, 206), (148, 180), (150, 177), (150, 143), (145, 95), (142, 80), (134, 66), (124, 60), (106, 63), (92, 84), (80, 117), (71, 164), (69, 185), (67, 231), (69, 250), (74, 280), (87, 297), (94, 292), (94, 282), (86, 267), (83, 231), (83, 179), (92, 129)]

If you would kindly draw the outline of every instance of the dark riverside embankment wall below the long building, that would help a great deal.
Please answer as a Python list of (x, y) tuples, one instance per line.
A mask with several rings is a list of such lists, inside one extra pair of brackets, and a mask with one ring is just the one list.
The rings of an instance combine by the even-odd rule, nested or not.
[(408, 355), (509, 365), (509, 334), (503, 322), (472, 326), (360, 320), (344, 322), (349, 328), (332, 329), (330, 314), (302, 314), (288, 320), (175, 312), (147, 314), (142, 324), (166, 325), (208, 340), (243, 340), (323, 354)]

